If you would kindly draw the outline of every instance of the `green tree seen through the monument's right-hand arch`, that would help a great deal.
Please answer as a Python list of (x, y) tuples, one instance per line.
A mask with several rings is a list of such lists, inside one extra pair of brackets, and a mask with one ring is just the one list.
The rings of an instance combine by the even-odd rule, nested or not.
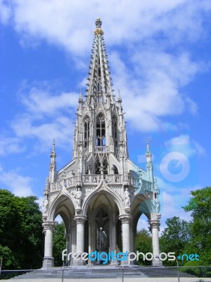
[[(147, 252), (153, 252), (151, 233), (146, 231), (144, 228), (141, 229), (141, 231), (139, 231), (136, 235), (136, 250), (143, 252), (143, 254), (146, 254)], [(151, 261), (144, 261), (143, 257), (140, 256), (137, 264), (151, 265)]]

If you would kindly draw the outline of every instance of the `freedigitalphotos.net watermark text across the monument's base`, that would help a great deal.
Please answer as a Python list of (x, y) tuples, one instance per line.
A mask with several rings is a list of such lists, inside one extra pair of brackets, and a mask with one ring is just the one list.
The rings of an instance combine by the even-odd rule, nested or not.
[[(82, 252), (82, 254), (79, 253), (74, 253), (74, 252), (69, 252), (67, 254), (67, 249), (63, 250), (62, 252), (62, 260), (64, 261), (65, 258), (70, 261), (71, 258), (75, 259), (75, 260), (84, 260), (87, 261), (88, 259), (91, 262), (96, 261), (102, 261), (103, 264), (107, 264), (108, 262), (110, 262), (110, 260), (113, 261), (119, 261), (119, 262), (124, 262), (127, 261), (132, 262), (132, 261), (138, 261), (139, 258), (143, 259), (143, 261), (147, 260), (147, 261), (152, 261), (153, 259), (155, 260), (160, 260), (160, 261), (174, 261), (175, 259), (179, 259), (179, 257), (176, 258), (175, 256), (175, 252), (168, 252), (167, 254), (165, 252), (161, 252), (160, 255), (158, 256), (154, 256), (151, 252), (147, 252), (146, 254), (144, 254), (143, 252), (118, 252), (117, 254), (115, 254), (115, 252), (111, 251), (111, 252), (90, 252), (89, 254), (87, 252)], [(182, 255), (180, 258), (181, 260), (184, 260), (184, 258), (186, 258), (186, 260), (199, 260), (198, 259), (198, 255), (197, 254), (191, 254), (191, 255)]]

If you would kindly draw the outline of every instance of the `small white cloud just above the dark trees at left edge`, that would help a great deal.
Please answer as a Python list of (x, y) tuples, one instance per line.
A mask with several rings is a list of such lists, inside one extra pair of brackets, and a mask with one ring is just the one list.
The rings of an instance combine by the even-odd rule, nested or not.
[(32, 192), (32, 178), (21, 176), (18, 171), (4, 171), (0, 166), (0, 181), (6, 185), (6, 189), (19, 197), (34, 195)]

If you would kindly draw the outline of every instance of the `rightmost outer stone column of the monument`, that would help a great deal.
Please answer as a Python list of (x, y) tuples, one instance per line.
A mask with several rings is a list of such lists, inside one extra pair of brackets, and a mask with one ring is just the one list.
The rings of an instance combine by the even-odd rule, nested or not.
[(153, 240), (153, 266), (162, 266), (162, 261), (159, 259), (160, 247), (159, 247), (159, 238), (158, 231), (160, 226), (160, 221), (158, 219), (152, 219), (150, 221), (152, 240)]

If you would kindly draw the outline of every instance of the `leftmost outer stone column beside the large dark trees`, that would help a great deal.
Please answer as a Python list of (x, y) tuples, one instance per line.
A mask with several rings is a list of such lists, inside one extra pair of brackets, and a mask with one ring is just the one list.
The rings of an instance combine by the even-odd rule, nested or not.
[(46, 221), (42, 224), (45, 234), (44, 261), (42, 268), (46, 269), (54, 266), (53, 255), (53, 226), (54, 221)]

